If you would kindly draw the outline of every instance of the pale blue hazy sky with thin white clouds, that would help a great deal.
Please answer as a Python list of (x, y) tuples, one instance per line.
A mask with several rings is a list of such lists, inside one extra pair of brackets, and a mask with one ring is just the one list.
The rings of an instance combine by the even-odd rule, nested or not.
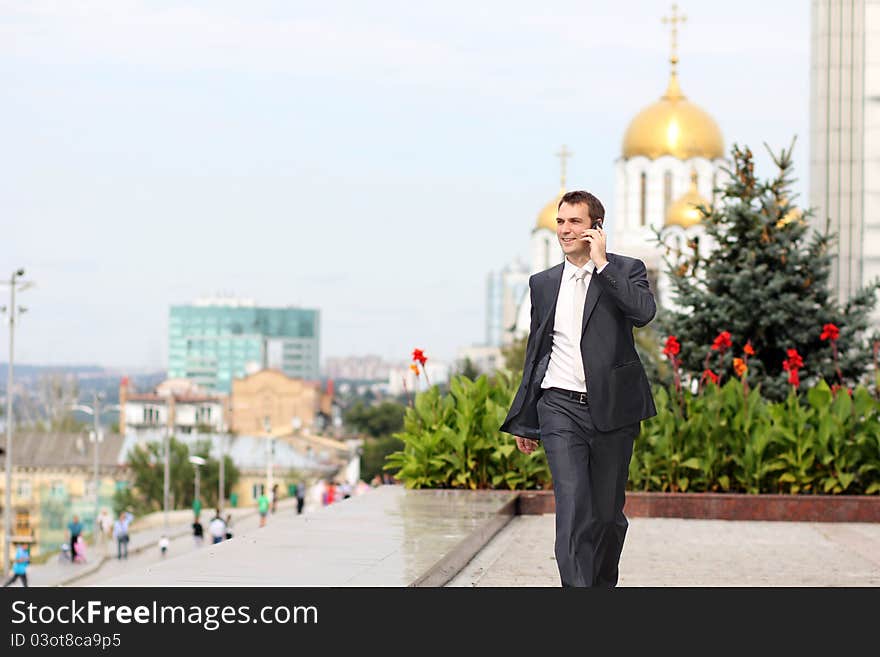
[[(810, 5), (681, 2), (679, 76), (759, 175), (809, 178)], [(168, 309), (321, 311), (321, 358), (485, 338), (486, 276), (559, 188), (605, 200), (668, 79), (670, 3), (0, 0), (15, 359), (166, 366)], [(609, 244), (610, 251), (614, 245)], [(0, 286), (8, 303), (8, 286)], [(0, 360), (8, 355), (0, 329)]]

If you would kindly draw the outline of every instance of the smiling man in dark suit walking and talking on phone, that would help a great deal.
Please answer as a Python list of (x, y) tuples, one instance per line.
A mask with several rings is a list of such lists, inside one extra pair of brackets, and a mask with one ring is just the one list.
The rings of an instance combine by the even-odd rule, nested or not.
[(531, 454), (543, 442), (556, 499), (563, 586), (617, 584), (633, 441), (657, 414), (633, 341), (656, 304), (642, 261), (607, 253), (605, 208), (566, 193), (556, 234), (565, 260), (529, 279), (523, 378), (502, 431)]

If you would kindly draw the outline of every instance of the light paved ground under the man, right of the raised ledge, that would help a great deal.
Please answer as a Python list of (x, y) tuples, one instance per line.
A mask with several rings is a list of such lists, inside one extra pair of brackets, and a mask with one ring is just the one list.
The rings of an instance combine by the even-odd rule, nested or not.
[[(448, 586), (559, 586), (554, 522), (515, 517)], [(880, 586), (880, 524), (629, 522), (620, 586)]]

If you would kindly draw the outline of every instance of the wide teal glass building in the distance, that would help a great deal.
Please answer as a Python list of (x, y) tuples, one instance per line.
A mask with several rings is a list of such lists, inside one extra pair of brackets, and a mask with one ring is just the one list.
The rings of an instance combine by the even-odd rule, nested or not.
[(224, 393), (234, 378), (266, 368), (317, 380), (319, 334), (318, 310), (230, 299), (171, 306), (168, 376)]

